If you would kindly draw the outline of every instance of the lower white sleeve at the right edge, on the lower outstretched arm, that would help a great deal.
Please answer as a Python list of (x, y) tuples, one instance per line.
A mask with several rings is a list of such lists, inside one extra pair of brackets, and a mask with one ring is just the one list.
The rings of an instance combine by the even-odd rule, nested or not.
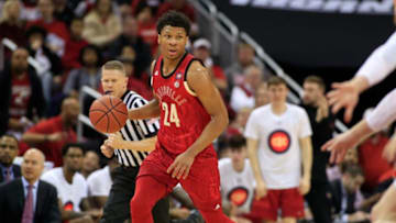
[(377, 132), (396, 120), (396, 88), (385, 96), (374, 111), (365, 118), (369, 126)]

